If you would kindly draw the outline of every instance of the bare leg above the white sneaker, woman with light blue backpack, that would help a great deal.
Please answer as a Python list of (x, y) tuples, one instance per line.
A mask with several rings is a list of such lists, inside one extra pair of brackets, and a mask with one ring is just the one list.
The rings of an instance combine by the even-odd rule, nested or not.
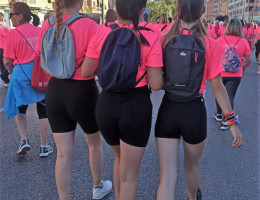
[(89, 165), (92, 172), (94, 185), (101, 183), (103, 170), (103, 151), (100, 132), (85, 134), (89, 148)]

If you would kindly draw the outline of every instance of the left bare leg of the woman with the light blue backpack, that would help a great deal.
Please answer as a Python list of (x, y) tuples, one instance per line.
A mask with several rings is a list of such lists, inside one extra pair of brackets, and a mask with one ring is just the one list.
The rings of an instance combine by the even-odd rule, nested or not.
[(75, 131), (53, 133), (57, 146), (55, 179), (60, 200), (70, 199), (71, 163), (74, 149)]

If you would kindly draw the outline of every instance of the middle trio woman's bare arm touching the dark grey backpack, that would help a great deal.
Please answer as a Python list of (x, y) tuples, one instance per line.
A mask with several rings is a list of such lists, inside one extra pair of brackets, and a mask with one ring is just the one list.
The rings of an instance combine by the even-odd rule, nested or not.
[(162, 67), (147, 67), (147, 80), (152, 90), (162, 89), (164, 85)]

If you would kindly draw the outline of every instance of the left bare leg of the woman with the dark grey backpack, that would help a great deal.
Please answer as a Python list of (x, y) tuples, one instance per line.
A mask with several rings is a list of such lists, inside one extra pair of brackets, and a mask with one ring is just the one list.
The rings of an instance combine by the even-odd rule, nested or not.
[(160, 163), (157, 200), (174, 200), (179, 143), (179, 139), (156, 138)]

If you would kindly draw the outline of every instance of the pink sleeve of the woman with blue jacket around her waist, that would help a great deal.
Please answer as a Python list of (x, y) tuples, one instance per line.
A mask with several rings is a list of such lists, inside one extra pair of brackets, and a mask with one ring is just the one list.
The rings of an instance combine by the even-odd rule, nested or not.
[(5, 46), (4, 46), (4, 57), (15, 59), (15, 49), (14, 49), (14, 40), (15, 40), (15, 30), (10, 30), (5, 37)]

